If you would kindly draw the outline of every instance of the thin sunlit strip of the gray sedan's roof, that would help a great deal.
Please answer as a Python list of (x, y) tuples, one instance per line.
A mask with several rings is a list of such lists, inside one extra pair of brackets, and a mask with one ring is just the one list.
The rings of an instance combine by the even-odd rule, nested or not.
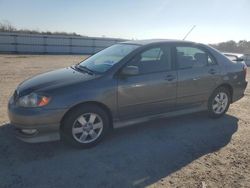
[(160, 43), (185, 43), (185, 44), (195, 44), (191, 41), (184, 40), (174, 40), (174, 39), (148, 39), (148, 40), (131, 40), (122, 42), (122, 44), (137, 44), (137, 45), (151, 45), (151, 44), (160, 44)]

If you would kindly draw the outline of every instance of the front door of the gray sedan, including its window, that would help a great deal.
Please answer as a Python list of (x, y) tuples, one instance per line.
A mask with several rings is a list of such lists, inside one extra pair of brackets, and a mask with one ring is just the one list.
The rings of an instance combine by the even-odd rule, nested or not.
[(139, 74), (120, 76), (118, 108), (121, 119), (153, 115), (172, 109), (176, 102), (177, 73), (170, 46), (158, 45), (136, 55), (127, 66)]

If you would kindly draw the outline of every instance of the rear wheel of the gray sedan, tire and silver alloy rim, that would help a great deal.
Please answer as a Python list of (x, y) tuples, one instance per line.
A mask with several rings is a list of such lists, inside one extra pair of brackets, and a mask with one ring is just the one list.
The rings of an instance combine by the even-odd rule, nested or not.
[(208, 113), (212, 118), (223, 116), (231, 103), (231, 94), (228, 89), (219, 87), (214, 90), (208, 100)]

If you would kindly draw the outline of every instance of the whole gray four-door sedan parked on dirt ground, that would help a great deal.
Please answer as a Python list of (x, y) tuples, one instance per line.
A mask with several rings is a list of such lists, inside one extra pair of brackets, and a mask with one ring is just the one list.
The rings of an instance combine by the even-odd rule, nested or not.
[(113, 128), (156, 118), (204, 110), (219, 118), (244, 96), (246, 73), (244, 63), (203, 44), (128, 41), (22, 82), (9, 119), (23, 141), (86, 148)]

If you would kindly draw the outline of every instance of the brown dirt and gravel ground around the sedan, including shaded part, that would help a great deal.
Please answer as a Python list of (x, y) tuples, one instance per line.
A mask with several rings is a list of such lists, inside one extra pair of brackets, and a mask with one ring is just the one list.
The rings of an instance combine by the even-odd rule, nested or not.
[(221, 119), (196, 113), (151, 121), (116, 130), (88, 150), (17, 140), (6, 113), (17, 84), (84, 58), (0, 55), (1, 188), (250, 187), (249, 87)]

